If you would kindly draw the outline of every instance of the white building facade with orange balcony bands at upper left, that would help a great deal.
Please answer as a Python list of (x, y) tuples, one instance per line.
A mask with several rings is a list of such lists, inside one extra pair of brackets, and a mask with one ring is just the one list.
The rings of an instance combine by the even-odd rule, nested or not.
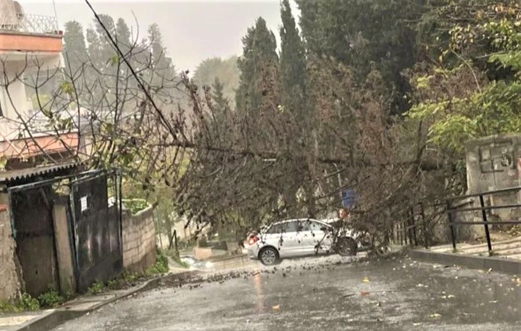
[(27, 14), (18, 2), (0, 0), (0, 165), (6, 169), (59, 163), (76, 152), (73, 126), (49, 126), (54, 109), (61, 109), (53, 93), (63, 81), (62, 49), (56, 17)]

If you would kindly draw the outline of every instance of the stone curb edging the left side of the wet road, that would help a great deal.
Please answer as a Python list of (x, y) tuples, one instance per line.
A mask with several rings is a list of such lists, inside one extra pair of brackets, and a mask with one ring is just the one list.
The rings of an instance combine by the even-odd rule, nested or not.
[(135, 288), (135, 289), (133, 289), (133, 290), (131, 290), (129, 292), (123, 293), (122, 295), (119, 295), (119, 296), (116, 296), (114, 298), (110, 298), (110, 299), (108, 299), (106, 301), (100, 302), (100, 303), (94, 305), (91, 308), (88, 308), (88, 309), (85, 309), (85, 310), (57, 309), (57, 310), (54, 310), (54, 311), (50, 311), (48, 313), (44, 313), (44, 315), (42, 317), (37, 318), (36, 320), (29, 321), (29, 322), (26, 322), (26, 323), (22, 324), (16, 330), (17, 331), (40, 330), (41, 331), (41, 330), (52, 329), (52, 328), (54, 328), (54, 327), (56, 327), (56, 326), (58, 326), (60, 324), (63, 324), (65, 322), (69, 321), (69, 320), (73, 320), (74, 318), (78, 318), (80, 316), (83, 316), (86, 313), (90, 313), (90, 312), (93, 312), (93, 311), (95, 311), (97, 309), (100, 309), (104, 305), (107, 305), (107, 304), (112, 303), (114, 301), (125, 299), (125, 298), (133, 296), (133, 295), (135, 295), (137, 293), (141, 293), (141, 292), (153, 289), (153, 288), (157, 287), (165, 279), (170, 279), (170, 278), (175, 279), (175, 278), (180, 277), (180, 276), (196, 275), (196, 274), (197, 274), (197, 272), (187, 271), (187, 272), (182, 272), (182, 273), (179, 273), (179, 274), (171, 274), (171, 275), (165, 275), (165, 276), (153, 278), (153, 279), (147, 280), (145, 283), (143, 283), (139, 287), (137, 287), (137, 288)]

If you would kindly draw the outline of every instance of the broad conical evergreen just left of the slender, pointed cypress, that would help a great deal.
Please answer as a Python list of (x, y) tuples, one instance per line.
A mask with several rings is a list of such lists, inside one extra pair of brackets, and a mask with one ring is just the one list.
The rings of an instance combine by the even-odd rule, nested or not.
[(261, 107), (278, 105), (278, 56), (275, 35), (259, 17), (242, 39), (243, 54), (238, 60), (241, 70), (235, 95), (237, 109), (257, 111)]

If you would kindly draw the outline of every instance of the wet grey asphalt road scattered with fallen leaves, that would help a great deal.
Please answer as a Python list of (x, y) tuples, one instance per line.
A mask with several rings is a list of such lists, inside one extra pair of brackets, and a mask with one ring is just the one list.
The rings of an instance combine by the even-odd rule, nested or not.
[(499, 273), (336, 257), (243, 270), (144, 292), (55, 330), (521, 330), (521, 287)]

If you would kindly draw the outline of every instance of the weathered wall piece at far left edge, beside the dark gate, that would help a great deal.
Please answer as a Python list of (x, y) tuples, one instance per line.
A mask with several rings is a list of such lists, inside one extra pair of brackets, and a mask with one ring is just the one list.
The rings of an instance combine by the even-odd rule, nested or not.
[(0, 205), (0, 300), (11, 299), (22, 289), (12, 234), (9, 212)]

